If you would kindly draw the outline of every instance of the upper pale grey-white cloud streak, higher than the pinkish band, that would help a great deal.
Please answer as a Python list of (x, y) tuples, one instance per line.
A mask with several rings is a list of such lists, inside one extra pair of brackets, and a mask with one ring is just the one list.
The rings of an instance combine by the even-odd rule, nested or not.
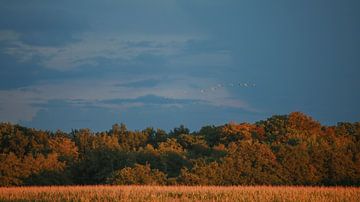
[(230, 52), (213, 50), (206, 53), (187, 53), (189, 41), (203, 40), (200, 35), (121, 35), (117, 33), (85, 33), (64, 46), (29, 45), (20, 40), (20, 34), (0, 31), (0, 41), (7, 46), (2, 51), (20, 62), (32, 59), (45, 68), (67, 71), (79, 66), (101, 65), (99, 58), (131, 63), (142, 54), (166, 58), (170, 66), (224, 66), (231, 63)]

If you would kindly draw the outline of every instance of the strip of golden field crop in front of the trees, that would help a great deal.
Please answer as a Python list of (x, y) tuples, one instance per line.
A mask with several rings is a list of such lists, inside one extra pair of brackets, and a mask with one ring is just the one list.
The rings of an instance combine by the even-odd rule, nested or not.
[(50, 186), (0, 188), (0, 201), (360, 201), (354, 187)]

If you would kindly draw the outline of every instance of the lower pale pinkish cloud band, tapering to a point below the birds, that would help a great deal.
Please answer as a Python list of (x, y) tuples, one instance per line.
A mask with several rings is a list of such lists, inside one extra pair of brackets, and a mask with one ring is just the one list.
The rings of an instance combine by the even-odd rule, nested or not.
[[(152, 79), (159, 80), (161, 77)], [(173, 77), (153, 86), (136, 86), (139, 80), (147, 81), (130, 79), (128, 83), (118, 85), (117, 80), (74, 79), (62, 83), (42, 83), (16, 90), (3, 90), (0, 91), (0, 106), (3, 107), (0, 120), (31, 120), (39, 110), (54, 107), (55, 105), (47, 104), (53, 100), (66, 101), (67, 105), (79, 109), (122, 110), (149, 105), (186, 107), (196, 104), (254, 111), (246, 102), (232, 97), (226, 88), (201, 93), (202, 87), (216, 84), (214, 80)], [(9, 117), (9, 114), (12, 116)]]

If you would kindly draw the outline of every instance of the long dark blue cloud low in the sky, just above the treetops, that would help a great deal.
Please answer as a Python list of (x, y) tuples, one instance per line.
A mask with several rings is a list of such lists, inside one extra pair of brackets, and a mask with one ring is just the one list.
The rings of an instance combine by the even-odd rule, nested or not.
[[(164, 98), (157, 96), (145, 96), (130, 101), (135, 100), (166, 103)], [(120, 122), (125, 123), (128, 128), (136, 130), (144, 129), (147, 126), (170, 130), (179, 124), (185, 124), (192, 130), (198, 130), (200, 126), (206, 124), (245, 120), (244, 115), (246, 115), (247, 121), (259, 119), (259, 114), (243, 109), (214, 108), (212, 105), (198, 102), (185, 104), (183, 107), (168, 104), (146, 104), (127, 108), (79, 107), (78, 102), (79, 100), (49, 100), (38, 105), (40, 109), (31, 120), (23, 120), (20, 123), (35, 128), (66, 131), (77, 128), (104, 131), (108, 130), (112, 124)]]

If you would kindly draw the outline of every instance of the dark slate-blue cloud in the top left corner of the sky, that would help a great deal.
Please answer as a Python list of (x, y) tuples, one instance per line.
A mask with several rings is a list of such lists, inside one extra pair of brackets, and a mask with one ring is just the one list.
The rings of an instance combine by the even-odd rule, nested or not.
[(12, 30), (28, 45), (62, 46), (89, 29), (89, 20), (66, 4), (8, 1), (0, 8), (0, 27)]

